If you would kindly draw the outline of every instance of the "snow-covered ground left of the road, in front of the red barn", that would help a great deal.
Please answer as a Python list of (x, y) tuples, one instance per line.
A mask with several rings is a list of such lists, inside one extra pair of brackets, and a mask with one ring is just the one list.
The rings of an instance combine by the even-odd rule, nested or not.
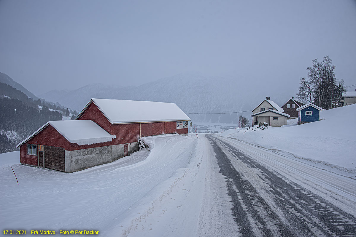
[(144, 140), (150, 152), (74, 173), (20, 165), (19, 152), (0, 154), (1, 227), (99, 230), (100, 236), (236, 233), (225, 180), (206, 139)]

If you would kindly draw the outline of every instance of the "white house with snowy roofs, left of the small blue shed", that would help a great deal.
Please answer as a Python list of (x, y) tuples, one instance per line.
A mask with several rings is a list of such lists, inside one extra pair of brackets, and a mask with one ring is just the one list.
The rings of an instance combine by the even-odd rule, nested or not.
[(252, 110), (252, 124), (267, 123), (270, 126), (280, 127), (287, 124), (289, 114), (283, 113), (283, 109), (266, 97), (261, 104)]

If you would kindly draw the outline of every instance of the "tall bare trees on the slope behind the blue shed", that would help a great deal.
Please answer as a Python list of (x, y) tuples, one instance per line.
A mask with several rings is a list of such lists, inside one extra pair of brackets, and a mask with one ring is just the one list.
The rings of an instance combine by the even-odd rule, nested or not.
[(331, 65), (329, 56), (323, 61), (314, 59), (313, 66), (307, 68), (308, 79), (300, 78), (297, 97), (308, 103), (313, 103), (323, 109), (335, 108), (346, 91), (344, 80), (336, 80), (335, 66)]

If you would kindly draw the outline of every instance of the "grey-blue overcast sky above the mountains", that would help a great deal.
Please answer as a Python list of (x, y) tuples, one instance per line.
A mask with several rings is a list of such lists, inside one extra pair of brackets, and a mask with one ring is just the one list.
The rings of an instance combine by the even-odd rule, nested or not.
[(355, 0), (0, 0), (0, 32), (0, 71), (35, 95), (187, 71), (292, 88), (325, 55), (356, 84)]

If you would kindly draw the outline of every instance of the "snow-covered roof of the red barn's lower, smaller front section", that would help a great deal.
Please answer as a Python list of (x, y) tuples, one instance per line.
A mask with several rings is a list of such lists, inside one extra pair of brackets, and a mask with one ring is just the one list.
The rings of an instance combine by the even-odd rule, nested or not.
[(99, 142), (112, 141), (112, 139), (116, 138), (115, 135), (109, 134), (91, 120), (58, 120), (47, 122), (33, 134), (28, 136), (28, 138), (17, 144), (16, 147), (21, 146), (26, 141), (36, 136), (43, 129), (47, 128), (48, 125), (51, 125), (56, 129), (69, 142), (77, 143), (78, 145), (90, 145)]

